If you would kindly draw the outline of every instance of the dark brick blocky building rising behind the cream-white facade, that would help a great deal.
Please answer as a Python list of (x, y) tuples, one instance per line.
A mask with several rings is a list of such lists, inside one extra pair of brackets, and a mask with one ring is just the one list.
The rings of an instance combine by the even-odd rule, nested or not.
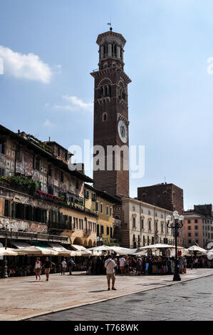
[[(157, 207), (165, 208), (183, 215), (184, 202), (183, 190), (174, 184), (157, 184), (152, 186), (137, 187), (137, 199), (142, 202), (155, 205)], [(177, 238), (178, 244), (185, 244), (185, 231), (184, 228), (179, 230), (180, 237)]]

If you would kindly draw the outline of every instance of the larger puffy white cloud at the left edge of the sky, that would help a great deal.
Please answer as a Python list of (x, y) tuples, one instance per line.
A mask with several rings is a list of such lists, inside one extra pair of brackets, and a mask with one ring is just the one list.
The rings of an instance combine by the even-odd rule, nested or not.
[(49, 83), (52, 71), (48, 64), (43, 63), (34, 53), (22, 54), (10, 48), (0, 46), (0, 58), (4, 61), (4, 73), (15, 78)]

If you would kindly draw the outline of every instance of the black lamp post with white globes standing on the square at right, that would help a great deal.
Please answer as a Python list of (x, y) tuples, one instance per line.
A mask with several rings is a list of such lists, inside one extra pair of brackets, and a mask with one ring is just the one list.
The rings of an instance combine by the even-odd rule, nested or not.
[(175, 272), (173, 277), (173, 282), (180, 282), (180, 274), (179, 274), (179, 268), (177, 267), (177, 237), (179, 236), (178, 230), (182, 228), (183, 226), (183, 220), (184, 217), (182, 215), (179, 215), (177, 210), (173, 212), (174, 222), (172, 222), (171, 215), (167, 215), (166, 221), (167, 221), (167, 227), (172, 228), (173, 236), (175, 237)]

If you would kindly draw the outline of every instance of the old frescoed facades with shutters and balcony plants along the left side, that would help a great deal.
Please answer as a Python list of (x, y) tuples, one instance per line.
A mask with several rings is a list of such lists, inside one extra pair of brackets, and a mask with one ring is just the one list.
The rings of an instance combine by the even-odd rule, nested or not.
[[(84, 203), (83, 172), (68, 169), (66, 149), (56, 151), (26, 133), (0, 127), (0, 221), (13, 238), (93, 246), (98, 215)], [(0, 230), (4, 239), (5, 229)]]

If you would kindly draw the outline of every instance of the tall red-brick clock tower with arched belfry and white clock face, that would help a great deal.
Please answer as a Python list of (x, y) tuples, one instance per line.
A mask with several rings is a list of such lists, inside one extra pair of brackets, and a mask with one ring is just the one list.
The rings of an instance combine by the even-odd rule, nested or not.
[[(131, 81), (124, 72), (126, 41), (110, 28), (98, 35), (96, 43), (99, 46), (99, 68), (90, 73), (95, 79), (93, 145), (94, 148), (100, 145), (104, 151), (100, 157), (102, 162), (98, 162), (102, 168), (97, 170), (94, 163), (94, 187), (110, 195), (128, 197), (128, 83)], [(108, 151), (109, 146), (118, 150)], [(98, 154), (100, 151), (94, 150), (94, 158), (95, 155), (98, 158)]]

